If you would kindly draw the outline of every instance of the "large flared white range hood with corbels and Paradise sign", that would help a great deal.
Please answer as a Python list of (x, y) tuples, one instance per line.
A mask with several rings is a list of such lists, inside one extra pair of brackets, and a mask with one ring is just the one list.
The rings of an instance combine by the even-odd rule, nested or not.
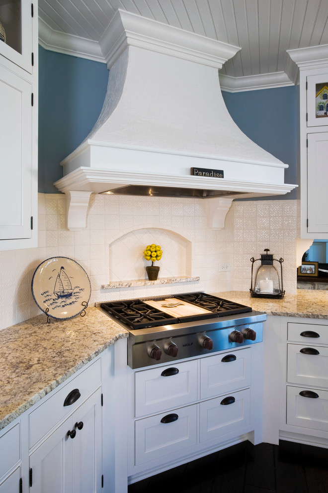
[(218, 69), (238, 47), (121, 10), (100, 46), (110, 69), (103, 109), (55, 183), (69, 229), (85, 227), (92, 192), (206, 198), (210, 225), (221, 228), (234, 198), (295, 188), (284, 184), (288, 166), (224, 104)]

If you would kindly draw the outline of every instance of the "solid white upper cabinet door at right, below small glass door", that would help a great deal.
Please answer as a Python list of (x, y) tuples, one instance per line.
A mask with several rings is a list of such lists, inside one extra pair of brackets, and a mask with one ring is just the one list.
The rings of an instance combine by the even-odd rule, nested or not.
[(308, 134), (308, 233), (328, 233), (328, 132)]

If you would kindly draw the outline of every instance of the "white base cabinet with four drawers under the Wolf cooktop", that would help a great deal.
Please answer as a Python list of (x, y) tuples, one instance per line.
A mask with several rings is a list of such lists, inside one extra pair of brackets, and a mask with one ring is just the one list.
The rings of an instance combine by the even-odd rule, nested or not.
[(260, 343), (173, 365), (129, 368), (129, 481), (206, 455), (222, 443), (260, 441), (261, 368)]

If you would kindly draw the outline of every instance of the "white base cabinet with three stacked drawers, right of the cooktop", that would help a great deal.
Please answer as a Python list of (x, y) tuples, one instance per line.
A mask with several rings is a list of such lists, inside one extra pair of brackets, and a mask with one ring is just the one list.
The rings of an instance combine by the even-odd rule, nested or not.
[(328, 321), (268, 316), (263, 441), (328, 448)]

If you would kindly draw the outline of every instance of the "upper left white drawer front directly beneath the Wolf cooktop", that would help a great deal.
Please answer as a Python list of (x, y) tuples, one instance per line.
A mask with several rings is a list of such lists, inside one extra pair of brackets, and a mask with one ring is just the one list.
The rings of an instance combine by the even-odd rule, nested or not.
[(144, 416), (197, 400), (197, 361), (135, 373), (135, 415)]

